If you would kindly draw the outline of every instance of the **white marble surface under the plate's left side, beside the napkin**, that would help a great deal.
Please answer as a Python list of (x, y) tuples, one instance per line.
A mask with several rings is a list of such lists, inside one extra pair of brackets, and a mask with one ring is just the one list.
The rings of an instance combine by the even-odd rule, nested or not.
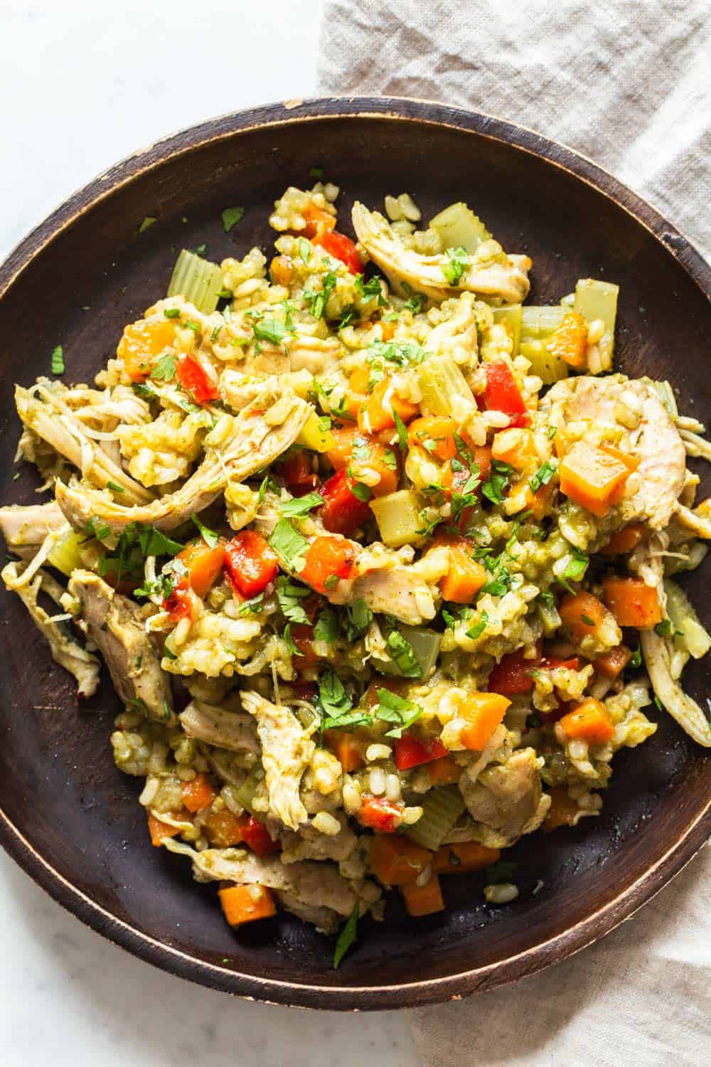
[[(0, 255), (95, 174), (210, 115), (312, 95), (321, 0), (0, 0)], [(260, 12), (260, 14), (257, 14)], [(414, 1067), (406, 1018), (249, 1004), (143, 964), (0, 854), (6, 1067)]]

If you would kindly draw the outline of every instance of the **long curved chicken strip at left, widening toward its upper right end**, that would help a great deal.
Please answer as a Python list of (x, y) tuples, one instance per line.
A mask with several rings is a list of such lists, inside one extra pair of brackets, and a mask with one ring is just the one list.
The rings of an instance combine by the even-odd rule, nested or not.
[(120, 534), (129, 523), (172, 530), (203, 511), (224, 492), (227, 480), (244, 481), (273, 463), (298, 436), (312, 407), (290, 393), (265, 391), (239, 415), (224, 415), (205, 439), (205, 459), (175, 493), (141, 507), (126, 507), (107, 493), (56, 483), (55, 495), (75, 529), (90, 519)]

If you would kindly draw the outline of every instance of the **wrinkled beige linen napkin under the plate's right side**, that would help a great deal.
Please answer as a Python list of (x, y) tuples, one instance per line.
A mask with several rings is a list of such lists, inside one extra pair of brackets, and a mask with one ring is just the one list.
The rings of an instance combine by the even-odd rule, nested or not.
[[(327, 0), (320, 90), (529, 126), (601, 163), (709, 257), (710, 15), (708, 0)], [(591, 949), (410, 1018), (433, 1067), (711, 1063), (711, 848)]]

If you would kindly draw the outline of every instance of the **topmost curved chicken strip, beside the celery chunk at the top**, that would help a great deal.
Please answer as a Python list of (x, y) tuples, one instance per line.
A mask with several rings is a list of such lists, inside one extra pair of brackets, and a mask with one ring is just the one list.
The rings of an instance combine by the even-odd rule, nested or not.
[(451, 264), (449, 256), (424, 256), (405, 248), (387, 219), (377, 211), (369, 211), (363, 204), (356, 202), (353, 205), (353, 226), (370, 257), (401, 294), (406, 291), (403, 283), (437, 303), (457, 292), (468, 291), (499, 297), (507, 304), (519, 304), (529, 293), (531, 260), (528, 256), (506, 255), (496, 241), (486, 242), (491, 251), (490, 258), (485, 258), (480, 249), (469, 257), (459, 280), (450, 283), (445, 273)]

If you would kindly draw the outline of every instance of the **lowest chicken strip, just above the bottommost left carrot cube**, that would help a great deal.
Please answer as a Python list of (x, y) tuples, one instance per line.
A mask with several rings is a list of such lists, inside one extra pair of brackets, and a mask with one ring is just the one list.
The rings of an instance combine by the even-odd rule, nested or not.
[(172, 853), (191, 857), (197, 881), (226, 879), (242, 885), (259, 883), (279, 894), (285, 893), (284, 906), (292, 910), (289, 903), (293, 903), (300, 908), (297, 914), (308, 914), (306, 909), (320, 909), (314, 914), (323, 920), (319, 928), (325, 934), (333, 934), (356, 903), (362, 915), (381, 896), (375, 882), (343, 878), (332, 863), (313, 860), (282, 863), (278, 856), (260, 857), (245, 848), (206, 848), (198, 853), (173, 840), (166, 840), (164, 845)]

